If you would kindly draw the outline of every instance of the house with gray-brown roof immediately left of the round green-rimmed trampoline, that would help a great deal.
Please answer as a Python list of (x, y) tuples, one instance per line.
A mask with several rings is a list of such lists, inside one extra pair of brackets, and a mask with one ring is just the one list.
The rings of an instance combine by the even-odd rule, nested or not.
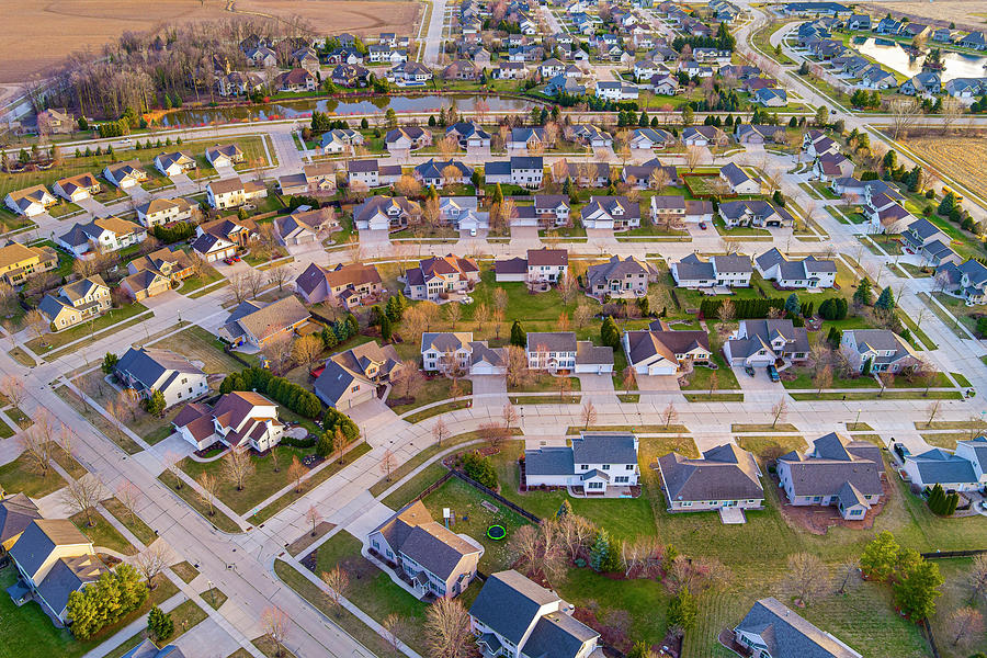
[(456, 597), (476, 578), (483, 545), (432, 519), (421, 500), (408, 503), (366, 537), (373, 556), (384, 559), (420, 599)]

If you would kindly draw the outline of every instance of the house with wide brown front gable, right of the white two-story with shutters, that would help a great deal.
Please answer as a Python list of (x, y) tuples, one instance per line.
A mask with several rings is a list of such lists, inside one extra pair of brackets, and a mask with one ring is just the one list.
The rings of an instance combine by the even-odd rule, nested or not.
[(673, 331), (663, 320), (646, 330), (625, 331), (621, 337), (627, 364), (638, 375), (678, 375), (692, 372), (694, 363), (710, 363), (710, 334)]

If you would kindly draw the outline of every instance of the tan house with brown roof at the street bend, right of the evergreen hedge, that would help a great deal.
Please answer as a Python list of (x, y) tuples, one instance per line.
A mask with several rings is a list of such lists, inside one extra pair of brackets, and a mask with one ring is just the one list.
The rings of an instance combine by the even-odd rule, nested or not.
[(389, 384), (400, 368), (394, 345), (363, 343), (326, 361), (316, 377), (315, 394), (334, 409), (349, 409), (376, 398), (377, 387)]

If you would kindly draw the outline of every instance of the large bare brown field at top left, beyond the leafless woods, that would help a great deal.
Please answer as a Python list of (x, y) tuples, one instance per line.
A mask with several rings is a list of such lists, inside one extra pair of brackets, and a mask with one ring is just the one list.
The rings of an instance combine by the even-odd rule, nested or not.
[[(423, 4), (413, 0), (238, 0), (234, 10), (268, 16), (300, 15), (324, 33), (417, 34)], [(8, 13), (0, 41), (0, 83), (22, 82), (67, 55), (103, 44), (127, 31), (163, 23), (229, 19), (225, 0), (61, 0), (19, 2)]]

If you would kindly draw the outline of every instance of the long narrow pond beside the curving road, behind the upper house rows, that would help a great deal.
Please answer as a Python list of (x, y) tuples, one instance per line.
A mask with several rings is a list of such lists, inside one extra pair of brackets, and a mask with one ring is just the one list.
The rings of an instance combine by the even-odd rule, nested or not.
[(269, 118), (293, 118), (308, 116), (313, 112), (329, 112), (338, 115), (347, 114), (383, 114), (388, 107), (395, 112), (431, 112), (439, 113), (443, 107), (455, 106), (456, 110), (472, 111), (476, 100), (487, 101), (490, 112), (530, 113), (535, 104), (532, 101), (504, 97), (478, 95), (393, 95), (367, 97), (352, 101), (337, 99), (299, 99), (297, 101), (279, 101), (266, 105), (237, 105), (234, 107), (196, 107), (179, 110), (162, 118), (166, 126), (198, 125), (207, 123), (230, 123), (245, 120), (266, 121)]

